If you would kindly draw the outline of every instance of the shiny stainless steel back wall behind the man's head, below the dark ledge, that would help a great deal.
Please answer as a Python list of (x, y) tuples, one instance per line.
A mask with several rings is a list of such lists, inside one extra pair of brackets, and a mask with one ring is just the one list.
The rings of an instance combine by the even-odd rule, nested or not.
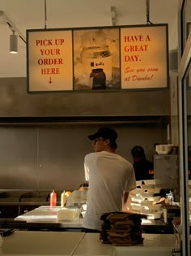
[(77, 189), (83, 159), (92, 151), (87, 135), (101, 126), (116, 128), (117, 153), (132, 163), (130, 150), (142, 145), (152, 160), (155, 143), (165, 143), (162, 124), (60, 124), (0, 127), (1, 189)]

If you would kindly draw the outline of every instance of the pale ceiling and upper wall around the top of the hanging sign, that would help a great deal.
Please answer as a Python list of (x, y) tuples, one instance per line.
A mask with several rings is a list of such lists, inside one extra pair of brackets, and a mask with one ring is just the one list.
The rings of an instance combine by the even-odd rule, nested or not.
[[(116, 7), (117, 25), (146, 24), (146, 0), (1, 0), (0, 11), (26, 37), (26, 29), (111, 26), (111, 7)], [(177, 48), (179, 0), (151, 0), (149, 20), (168, 24), (169, 50)], [(18, 54), (9, 53), (11, 29), (0, 16), (0, 77), (25, 77), (26, 44), (19, 39)]]

